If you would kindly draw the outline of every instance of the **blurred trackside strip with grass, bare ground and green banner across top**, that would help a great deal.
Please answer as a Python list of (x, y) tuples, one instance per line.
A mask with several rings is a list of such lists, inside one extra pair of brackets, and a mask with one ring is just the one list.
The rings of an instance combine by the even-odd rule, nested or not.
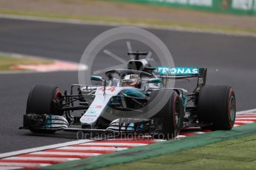
[(0, 13), (256, 33), (255, 0), (1, 0)]

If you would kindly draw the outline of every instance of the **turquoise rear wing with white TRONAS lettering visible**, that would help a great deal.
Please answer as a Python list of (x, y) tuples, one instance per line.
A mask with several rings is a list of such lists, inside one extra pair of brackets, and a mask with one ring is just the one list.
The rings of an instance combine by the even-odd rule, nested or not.
[(155, 74), (160, 75), (160, 78), (164, 80), (168, 79), (187, 79), (197, 78), (197, 88), (195, 92), (199, 92), (200, 88), (206, 85), (206, 68), (197, 67), (156, 67)]

